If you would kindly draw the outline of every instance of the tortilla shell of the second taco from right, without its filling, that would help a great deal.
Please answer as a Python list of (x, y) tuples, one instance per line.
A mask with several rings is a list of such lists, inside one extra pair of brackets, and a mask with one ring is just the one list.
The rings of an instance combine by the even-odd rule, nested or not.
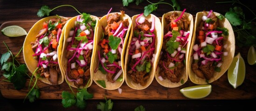
[[(167, 21), (165, 20), (165, 17), (167, 15), (171, 15), (173, 12), (177, 12), (178, 15), (180, 16), (180, 14), (182, 13), (182, 11), (171, 11), (171, 12), (167, 12), (165, 13), (163, 16), (162, 16), (162, 28), (163, 28), (163, 31), (162, 31), (162, 34), (164, 34), (164, 28), (166, 27), (167, 25)], [(160, 80), (159, 79), (159, 72), (163, 69), (163, 68), (157, 68), (157, 71), (156, 71), (156, 74), (155, 74), (155, 79), (158, 81), (158, 83), (162, 86), (165, 86), (165, 87), (178, 87), (178, 86), (181, 86), (183, 84), (185, 84), (188, 80), (188, 72), (187, 72), (187, 60), (188, 60), (188, 52), (189, 52), (189, 46), (190, 46), (190, 43), (191, 43), (191, 38), (192, 38), (192, 35), (193, 35), (193, 27), (194, 27), (194, 19), (193, 19), (193, 16), (190, 14), (190, 13), (187, 13), (187, 12), (184, 12), (184, 14), (187, 16), (187, 20), (190, 21), (190, 24), (189, 24), (189, 28), (188, 28), (188, 31), (190, 31), (189, 33), (189, 36), (187, 38), (187, 52), (186, 52), (186, 57), (185, 57), (185, 67), (184, 67), (184, 70), (182, 72), (182, 76), (180, 77), (180, 82), (172, 82), (171, 80), (169, 79), (164, 79), (164, 80)], [(163, 39), (164, 40), (164, 39)], [(162, 42), (163, 43), (163, 42)], [(161, 44), (162, 44), (161, 43)], [(161, 47), (162, 48), (162, 47)], [(158, 63), (159, 63), (159, 59), (160, 59), (160, 56), (159, 58), (157, 59), (158, 60)]]

